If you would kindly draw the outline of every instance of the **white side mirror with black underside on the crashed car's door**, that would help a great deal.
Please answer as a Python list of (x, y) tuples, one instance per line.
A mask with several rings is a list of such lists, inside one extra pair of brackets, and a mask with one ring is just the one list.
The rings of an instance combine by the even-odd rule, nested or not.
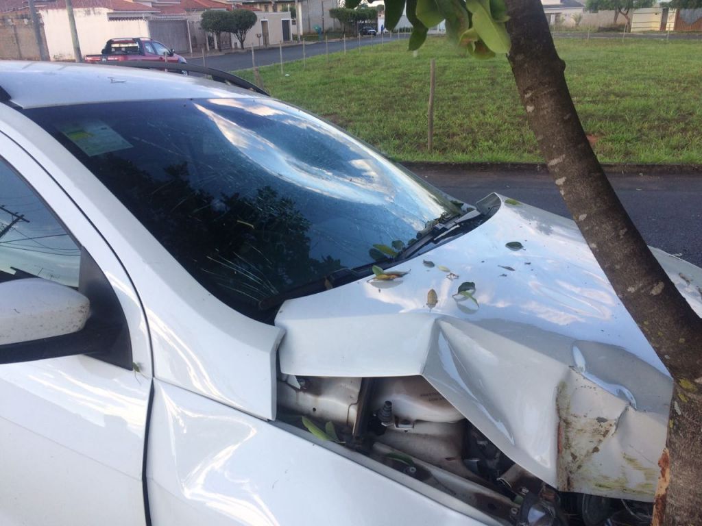
[(72, 336), (84, 330), (89, 316), (90, 300), (60, 283), (41, 278), (0, 283), (0, 363), (84, 352)]

